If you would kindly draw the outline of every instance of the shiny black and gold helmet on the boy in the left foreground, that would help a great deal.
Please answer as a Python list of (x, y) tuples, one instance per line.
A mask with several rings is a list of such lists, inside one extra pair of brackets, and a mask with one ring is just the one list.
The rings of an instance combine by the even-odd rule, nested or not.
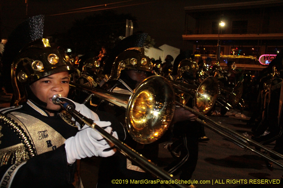
[(63, 71), (71, 73), (74, 67), (62, 50), (51, 48), (48, 39), (37, 39), (25, 46), (15, 58), (11, 67), (14, 89), (14, 105), (27, 100), (26, 86), (33, 82)]

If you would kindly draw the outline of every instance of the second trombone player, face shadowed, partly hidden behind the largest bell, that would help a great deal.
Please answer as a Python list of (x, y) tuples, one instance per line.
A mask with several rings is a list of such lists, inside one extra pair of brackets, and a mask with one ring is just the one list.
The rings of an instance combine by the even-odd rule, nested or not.
[[(148, 56), (144, 55), (144, 49), (141, 47), (129, 48), (120, 53), (114, 63), (112, 63), (112, 70), (110, 73), (110, 82), (114, 84), (108, 91), (131, 94), (134, 89), (148, 76), (152, 76), (152, 64)], [(107, 64), (105, 64), (107, 66)], [(107, 83), (107, 82), (106, 82)], [(156, 85), (158, 87), (158, 85)], [(172, 101), (173, 102), (173, 101)], [(125, 111), (113, 106), (109, 102), (100, 103), (99, 110), (112, 112), (123, 124), (125, 128)], [(194, 121), (197, 118), (194, 114), (182, 108), (175, 110), (171, 125), (180, 121)], [(123, 142), (135, 149), (147, 159), (158, 164), (158, 144), (162, 141), (158, 140), (151, 144), (137, 143), (130, 137), (128, 131), (125, 129), (125, 137), (120, 138)], [(164, 138), (160, 138), (161, 140)], [(164, 141), (164, 140), (163, 140)], [(121, 180), (156, 180), (149, 173), (146, 173), (142, 166), (135, 162), (126, 159), (123, 155), (116, 153), (109, 158), (103, 158), (99, 168), (97, 188), (106, 187), (132, 187), (132, 184), (111, 184), (113, 179)], [(187, 179), (186, 179), (187, 180)], [(193, 185), (187, 185), (193, 187)], [(159, 187), (158, 184), (140, 184), (135, 187)]]

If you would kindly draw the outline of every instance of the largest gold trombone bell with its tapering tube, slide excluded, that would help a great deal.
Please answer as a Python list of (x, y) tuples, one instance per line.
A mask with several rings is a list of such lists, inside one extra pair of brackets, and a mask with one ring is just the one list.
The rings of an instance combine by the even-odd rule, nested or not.
[(90, 93), (88, 99), (96, 96), (124, 108), (127, 130), (132, 138), (142, 144), (152, 143), (160, 138), (168, 129), (173, 118), (174, 91), (162, 76), (148, 77), (137, 86), (132, 95), (114, 93), (76, 83), (69, 85)]

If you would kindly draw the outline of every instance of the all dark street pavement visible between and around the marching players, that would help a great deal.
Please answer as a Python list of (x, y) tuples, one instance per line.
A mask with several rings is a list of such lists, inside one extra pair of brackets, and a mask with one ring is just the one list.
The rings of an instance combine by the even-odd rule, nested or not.
[[(11, 99), (10, 94), (3, 91), (0, 93), (0, 108), (8, 107)], [(236, 111), (240, 112), (240, 111)], [(251, 128), (246, 126), (249, 112), (242, 112), (247, 118), (237, 118), (234, 115), (214, 115), (209, 118), (224, 125), (239, 134), (251, 137)], [(279, 183), (283, 170), (280, 166), (273, 164), (269, 169), (263, 157), (250, 150), (244, 150), (228, 139), (214, 133), (205, 127), (205, 133), (209, 141), (199, 143), (199, 155), (196, 170), (191, 178), (198, 188), (282, 188), (283, 182)], [(166, 146), (170, 142), (159, 144), (159, 159), (164, 165), (174, 159)], [(275, 142), (266, 145), (272, 149)], [(99, 168), (99, 157), (86, 158), (81, 160), (81, 178), (85, 188), (96, 187), (97, 172)], [(280, 160), (283, 163), (282, 160)], [(178, 175), (174, 177), (178, 179)], [(255, 184), (259, 180), (271, 181), (274, 183)], [(197, 181), (197, 183), (196, 183)], [(200, 184), (200, 181), (205, 182)], [(133, 186), (135, 187), (135, 186)]]

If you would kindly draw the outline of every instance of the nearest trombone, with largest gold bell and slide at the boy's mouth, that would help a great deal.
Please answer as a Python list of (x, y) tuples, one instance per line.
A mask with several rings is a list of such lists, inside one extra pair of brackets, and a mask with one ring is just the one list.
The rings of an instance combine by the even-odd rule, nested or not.
[[(159, 87), (156, 87), (156, 85)], [(173, 118), (175, 109), (174, 91), (172, 86), (162, 76), (151, 76), (147, 78), (140, 83), (138, 88), (130, 96), (81, 86), (76, 83), (70, 83), (70, 86), (87, 93), (91, 92), (91, 94), (96, 97), (125, 108), (128, 132), (137, 142), (142, 144), (148, 144), (160, 138), (168, 129)], [(122, 154), (134, 160), (143, 169), (155, 175), (160, 180), (174, 182), (173, 184), (168, 184), (170, 187), (185, 188), (183, 185), (176, 184), (176, 181), (172, 178), (173, 175), (169, 175), (166, 171), (159, 169), (156, 165), (150, 162), (150, 160), (143, 157), (125, 143), (114, 138), (104, 131), (103, 128), (100, 128), (93, 123), (91, 119), (86, 118), (77, 112), (74, 107), (66, 103), (66, 101), (60, 100), (60, 97), (53, 96), (53, 103), (59, 104), (67, 112), (80, 118), (109, 142), (113, 143)]]

